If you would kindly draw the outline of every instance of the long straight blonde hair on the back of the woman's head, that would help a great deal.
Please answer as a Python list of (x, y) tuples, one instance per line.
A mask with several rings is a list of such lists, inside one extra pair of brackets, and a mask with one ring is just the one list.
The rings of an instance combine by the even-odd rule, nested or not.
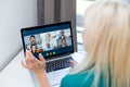
[(100, 1), (86, 12), (83, 45), (88, 59), (75, 72), (94, 69), (94, 87), (130, 87), (130, 7), (123, 1)]

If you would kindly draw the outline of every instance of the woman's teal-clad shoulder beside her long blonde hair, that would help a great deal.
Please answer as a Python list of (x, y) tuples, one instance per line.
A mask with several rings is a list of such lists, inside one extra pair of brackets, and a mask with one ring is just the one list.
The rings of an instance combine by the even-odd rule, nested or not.
[(90, 87), (94, 79), (92, 72), (81, 72), (66, 75), (61, 83), (61, 87)]

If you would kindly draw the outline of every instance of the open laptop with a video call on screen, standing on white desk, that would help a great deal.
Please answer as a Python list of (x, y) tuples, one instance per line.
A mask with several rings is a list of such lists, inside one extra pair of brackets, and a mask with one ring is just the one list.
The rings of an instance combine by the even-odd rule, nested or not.
[[(22, 28), (21, 34), (24, 51), (31, 51), (38, 60), (41, 53), (47, 61), (50, 84), (60, 84), (72, 66), (69, 60), (73, 60), (74, 42), (70, 22)], [(34, 75), (32, 78), (38, 85)]]

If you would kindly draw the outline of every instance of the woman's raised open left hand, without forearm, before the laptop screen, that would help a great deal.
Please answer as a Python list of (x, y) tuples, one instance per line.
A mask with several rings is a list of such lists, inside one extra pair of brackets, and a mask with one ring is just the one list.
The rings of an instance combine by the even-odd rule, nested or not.
[(46, 60), (41, 54), (39, 54), (39, 59), (37, 60), (30, 51), (26, 50), (26, 60), (25, 62), (22, 61), (22, 65), (32, 71), (36, 75), (40, 75), (46, 71)]

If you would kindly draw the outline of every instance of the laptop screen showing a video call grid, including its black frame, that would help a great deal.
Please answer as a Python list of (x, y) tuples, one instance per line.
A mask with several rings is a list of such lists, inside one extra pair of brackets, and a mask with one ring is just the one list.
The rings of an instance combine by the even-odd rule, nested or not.
[(44, 59), (74, 52), (70, 22), (36, 26), (21, 29), (24, 50), (30, 50)]

